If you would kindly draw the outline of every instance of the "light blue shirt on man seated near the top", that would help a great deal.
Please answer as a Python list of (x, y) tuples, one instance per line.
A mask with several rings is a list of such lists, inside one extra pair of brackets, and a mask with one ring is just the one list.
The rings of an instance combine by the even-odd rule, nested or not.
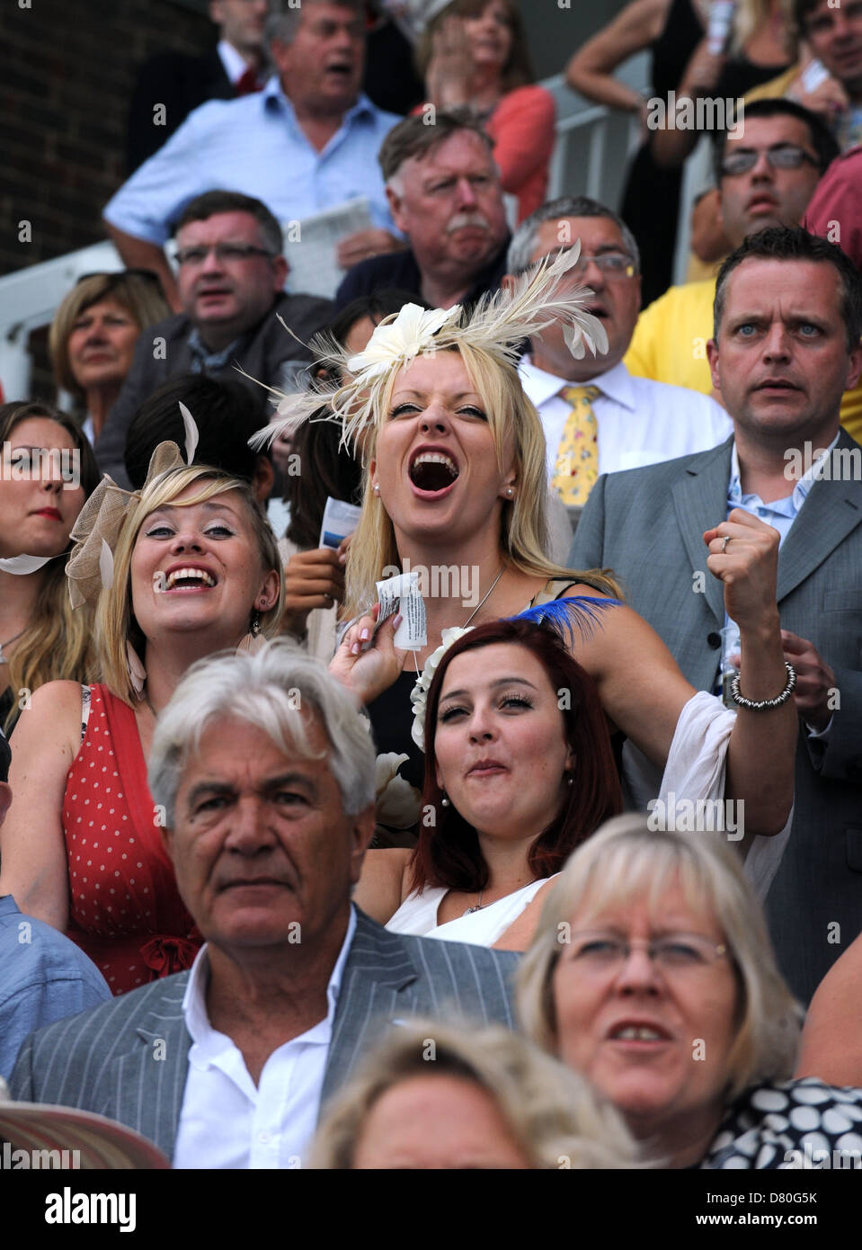
[(190, 200), (227, 190), (262, 200), (280, 221), (367, 196), (374, 224), (391, 230), (377, 152), (401, 120), (360, 95), (319, 152), (274, 76), (262, 91), (209, 100), (190, 112), (109, 201), (105, 220), (161, 246)]

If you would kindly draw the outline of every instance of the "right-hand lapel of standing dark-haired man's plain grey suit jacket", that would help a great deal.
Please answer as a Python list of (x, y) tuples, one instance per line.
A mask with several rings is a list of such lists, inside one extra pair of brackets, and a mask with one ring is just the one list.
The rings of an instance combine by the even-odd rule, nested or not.
[[(842, 430), (838, 448), (852, 450), (858, 444)], [(816, 481), (781, 546), (778, 602), (796, 590), (861, 521), (862, 484), (858, 480)]]

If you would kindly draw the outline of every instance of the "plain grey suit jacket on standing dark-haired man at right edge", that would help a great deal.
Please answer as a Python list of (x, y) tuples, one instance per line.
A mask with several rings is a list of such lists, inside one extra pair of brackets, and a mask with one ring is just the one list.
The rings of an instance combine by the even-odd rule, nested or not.
[[(712, 690), (725, 624), (703, 531), (727, 515), (732, 440), (711, 451), (601, 476), (570, 564), (610, 566), (686, 678)], [(862, 460), (842, 430), (838, 448)], [(858, 461), (857, 461), (858, 462)], [(697, 592), (703, 572), (705, 592)], [(766, 900), (778, 961), (807, 1001), (862, 929), (862, 481), (816, 481), (778, 556), (782, 629), (835, 670), (841, 706), (827, 742), (801, 726), (793, 829)], [(632, 662), (637, 659), (632, 656)], [(836, 922), (838, 928), (836, 928)]]

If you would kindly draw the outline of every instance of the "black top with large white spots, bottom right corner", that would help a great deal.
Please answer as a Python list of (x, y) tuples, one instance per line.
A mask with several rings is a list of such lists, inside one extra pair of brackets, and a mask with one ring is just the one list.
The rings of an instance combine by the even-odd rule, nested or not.
[(862, 1090), (813, 1076), (755, 1085), (731, 1106), (701, 1168), (862, 1168)]

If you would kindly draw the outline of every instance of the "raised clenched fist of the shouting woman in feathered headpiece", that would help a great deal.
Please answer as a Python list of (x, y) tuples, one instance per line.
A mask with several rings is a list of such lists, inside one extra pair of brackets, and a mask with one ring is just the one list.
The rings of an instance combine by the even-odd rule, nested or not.
[(703, 535), (710, 550), (706, 566), (725, 585), (725, 609), (740, 635), (765, 630), (778, 635), (778, 530), (742, 508)]

